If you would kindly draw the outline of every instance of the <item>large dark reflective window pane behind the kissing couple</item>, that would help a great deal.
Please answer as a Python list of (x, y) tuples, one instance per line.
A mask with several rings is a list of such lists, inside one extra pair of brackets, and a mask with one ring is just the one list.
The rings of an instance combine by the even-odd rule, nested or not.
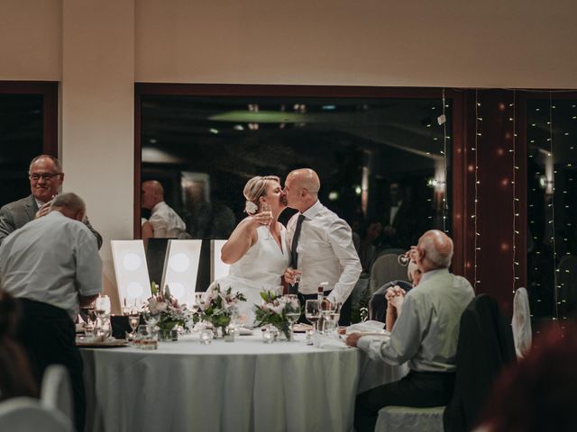
[[(142, 180), (164, 185), (193, 238), (228, 238), (249, 178), (312, 167), (368, 269), (424, 230), (450, 228), (442, 112), (440, 99), (143, 95)], [(450, 104), (445, 114), (451, 130)]]

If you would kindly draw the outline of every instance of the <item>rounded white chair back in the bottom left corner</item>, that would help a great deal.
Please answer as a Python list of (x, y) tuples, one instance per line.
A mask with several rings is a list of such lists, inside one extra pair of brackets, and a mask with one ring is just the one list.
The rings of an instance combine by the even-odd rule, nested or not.
[(10, 432), (73, 432), (70, 419), (32, 398), (14, 398), (0, 403), (0, 430)]

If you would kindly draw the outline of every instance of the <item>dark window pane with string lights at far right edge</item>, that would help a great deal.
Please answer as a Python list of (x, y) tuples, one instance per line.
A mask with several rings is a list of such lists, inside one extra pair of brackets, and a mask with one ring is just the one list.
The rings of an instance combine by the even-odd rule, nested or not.
[(527, 102), (527, 284), (535, 317), (563, 319), (577, 307), (575, 136), (576, 100)]

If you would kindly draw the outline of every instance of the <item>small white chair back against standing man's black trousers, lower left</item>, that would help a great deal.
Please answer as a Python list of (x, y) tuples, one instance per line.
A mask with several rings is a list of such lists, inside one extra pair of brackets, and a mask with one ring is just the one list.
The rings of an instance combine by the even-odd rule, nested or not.
[(74, 421), (74, 402), (69, 371), (62, 365), (50, 365), (42, 377), (42, 405), (50, 410), (60, 410)]

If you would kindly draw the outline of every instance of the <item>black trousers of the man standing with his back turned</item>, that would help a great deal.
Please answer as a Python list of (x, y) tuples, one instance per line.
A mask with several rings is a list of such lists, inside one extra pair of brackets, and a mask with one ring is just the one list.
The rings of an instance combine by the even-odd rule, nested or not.
[(75, 424), (78, 432), (86, 421), (86, 392), (83, 363), (76, 346), (76, 326), (69, 314), (50, 304), (20, 299), (22, 318), (16, 338), (23, 345), (39, 387), (50, 365), (64, 365), (69, 371), (74, 396)]

